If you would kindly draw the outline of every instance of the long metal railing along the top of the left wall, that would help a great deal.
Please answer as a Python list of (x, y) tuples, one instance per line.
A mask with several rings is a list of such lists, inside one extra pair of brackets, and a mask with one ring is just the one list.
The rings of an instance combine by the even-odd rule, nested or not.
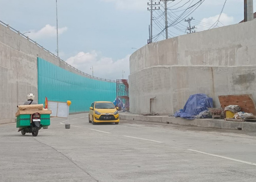
[(49, 50), (46, 50), (43, 46), (41, 46), (40, 44), (38, 44), (36, 41), (30, 39), (29, 36), (25, 36), (24, 34), (20, 33), (20, 31), (18, 31), (18, 30), (16, 30), (16, 29), (12, 28), (12, 27), (9, 26), (8, 24), (5, 24), (5, 23), (4, 23), (3, 21), (1, 21), (1, 20), (0, 20), (0, 23), (1, 23), (2, 25), (4, 25), (5, 27), (9, 28), (10, 30), (12, 30), (12, 31), (14, 31), (14, 32), (16, 32), (16, 33), (18, 33), (20, 36), (22, 36), (22, 37), (26, 38), (27, 40), (31, 41), (32, 43), (34, 43), (34, 44), (37, 45), (38, 47), (40, 47), (40, 48), (42, 48), (43, 50), (45, 50), (46, 52), (48, 52), (50, 55), (52, 55), (52, 56), (54, 56), (55, 58), (61, 60), (61, 61), (62, 61), (63, 63), (65, 63), (67, 66), (73, 68), (74, 70), (80, 72), (81, 74), (86, 75), (86, 76), (89, 76), (90, 78), (97, 79), (97, 80), (103, 80), (103, 81), (107, 81), (107, 82), (116, 82), (115, 80), (103, 79), (103, 78), (99, 78), (99, 77), (96, 77), (96, 76), (92, 76), (92, 75), (89, 75), (89, 74), (87, 74), (87, 73), (85, 73), (85, 72), (82, 72), (82, 71), (76, 69), (75, 67), (71, 66), (70, 64), (68, 64), (68, 63), (65, 62), (64, 60), (58, 58), (55, 54), (53, 54), (53, 53), (50, 52)]

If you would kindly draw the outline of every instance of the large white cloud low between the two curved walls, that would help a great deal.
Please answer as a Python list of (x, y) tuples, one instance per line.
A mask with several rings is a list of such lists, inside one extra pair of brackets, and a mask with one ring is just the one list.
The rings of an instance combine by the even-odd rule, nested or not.
[(116, 80), (122, 79), (123, 75), (124, 79), (128, 79), (130, 73), (129, 57), (130, 55), (127, 55), (123, 59), (114, 61), (112, 58), (99, 58), (96, 51), (91, 51), (87, 53), (79, 52), (77, 55), (68, 58), (66, 62), (87, 74), (93, 74), (99, 78)]

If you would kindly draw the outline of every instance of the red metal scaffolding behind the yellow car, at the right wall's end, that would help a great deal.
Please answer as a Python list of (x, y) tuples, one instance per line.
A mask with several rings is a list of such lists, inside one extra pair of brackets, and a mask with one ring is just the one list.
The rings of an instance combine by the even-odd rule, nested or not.
[(116, 80), (116, 106), (120, 112), (129, 111), (129, 84), (127, 79)]

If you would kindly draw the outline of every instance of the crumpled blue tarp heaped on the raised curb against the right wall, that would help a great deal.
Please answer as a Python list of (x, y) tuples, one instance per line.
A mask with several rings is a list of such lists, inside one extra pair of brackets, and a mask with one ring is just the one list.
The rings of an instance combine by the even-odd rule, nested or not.
[(194, 94), (189, 96), (184, 108), (176, 111), (174, 116), (186, 119), (195, 119), (197, 114), (208, 110), (208, 107), (213, 107), (211, 97), (207, 97), (206, 94)]

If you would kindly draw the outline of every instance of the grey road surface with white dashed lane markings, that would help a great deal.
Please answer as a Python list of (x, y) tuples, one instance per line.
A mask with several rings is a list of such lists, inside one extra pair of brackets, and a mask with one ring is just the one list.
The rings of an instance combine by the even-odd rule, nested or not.
[(0, 125), (0, 181), (256, 181), (256, 132), (51, 118), (37, 137)]

